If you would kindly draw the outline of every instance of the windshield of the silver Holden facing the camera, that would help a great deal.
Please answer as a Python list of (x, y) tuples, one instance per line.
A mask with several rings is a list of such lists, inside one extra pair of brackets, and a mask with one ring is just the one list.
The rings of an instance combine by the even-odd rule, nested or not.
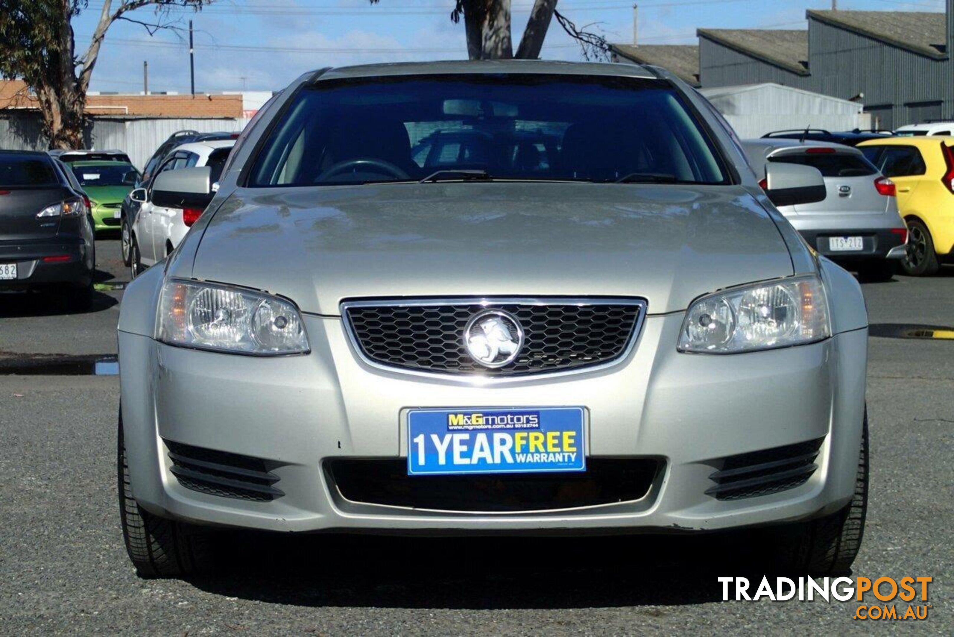
[(667, 82), (548, 74), (327, 80), (284, 109), (252, 186), (417, 180), (727, 183)]

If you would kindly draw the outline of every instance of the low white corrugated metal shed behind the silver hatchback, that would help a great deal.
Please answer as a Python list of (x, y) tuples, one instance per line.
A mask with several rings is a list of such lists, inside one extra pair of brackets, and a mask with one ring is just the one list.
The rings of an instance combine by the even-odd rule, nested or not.
[(850, 131), (870, 127), (870, 117), (857, 102), (823, 96), (773, 83), (700, 89), (736, 129), (740, 138), (758, 138), (771, 131), (823, 128)]

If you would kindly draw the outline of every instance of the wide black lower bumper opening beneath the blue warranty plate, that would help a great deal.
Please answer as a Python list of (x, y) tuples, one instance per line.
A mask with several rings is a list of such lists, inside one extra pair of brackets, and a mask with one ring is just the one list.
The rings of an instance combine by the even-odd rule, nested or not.
[(587, 471), (496, 476), (408, 476), (404, 459), (329, 459), (331, 484), (364, 504), (465, 513), (572, 509), (641, 499), (661, 462), (588, 458)]

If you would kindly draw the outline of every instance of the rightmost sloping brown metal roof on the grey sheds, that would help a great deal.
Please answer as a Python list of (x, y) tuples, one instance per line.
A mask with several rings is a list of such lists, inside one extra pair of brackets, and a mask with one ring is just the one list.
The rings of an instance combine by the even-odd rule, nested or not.
[(947, 57), (944, 13), (809, 10), (806, 16), (809, 19), (860, 33), (914, 53), (921, 53), (935, 59)]

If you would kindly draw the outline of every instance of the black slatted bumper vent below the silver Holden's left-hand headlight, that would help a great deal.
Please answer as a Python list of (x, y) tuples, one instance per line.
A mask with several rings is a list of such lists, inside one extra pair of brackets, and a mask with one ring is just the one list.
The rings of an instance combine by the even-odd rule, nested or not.
[(269, 471), (280, 466), (278, 463), (172, 440), (164, 442), (173, 461), (170, 471), (186, 489), (259, 502), (285, 495), (274, 486), (279, 477)]

